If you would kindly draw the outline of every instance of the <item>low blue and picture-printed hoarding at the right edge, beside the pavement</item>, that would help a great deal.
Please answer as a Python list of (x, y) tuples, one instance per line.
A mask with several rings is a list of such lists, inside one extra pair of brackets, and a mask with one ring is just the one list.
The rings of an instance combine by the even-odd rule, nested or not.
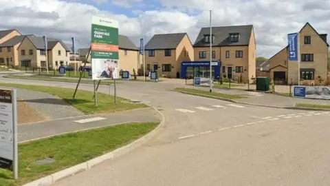
[(326, 86), (294, 86), (294, 97), (308, 99), (330, 99), (330, 87)]

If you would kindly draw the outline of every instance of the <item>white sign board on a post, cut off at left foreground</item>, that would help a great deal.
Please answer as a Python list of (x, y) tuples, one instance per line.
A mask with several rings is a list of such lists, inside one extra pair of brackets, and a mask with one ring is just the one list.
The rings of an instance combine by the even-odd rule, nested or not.
[(19, 177), (16, 90), (0, 90), (0, 168)]

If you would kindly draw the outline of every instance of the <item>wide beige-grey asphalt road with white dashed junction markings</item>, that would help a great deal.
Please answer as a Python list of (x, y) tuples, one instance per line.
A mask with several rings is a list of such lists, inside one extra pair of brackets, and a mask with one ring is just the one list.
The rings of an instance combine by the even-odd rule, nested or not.
[(134, 152), (55, 185), (330, 185), (329, 112), (233, 104), (169, 91), (173, 86), (118, 84), (118, 96), (161, 110), (166, 128)]

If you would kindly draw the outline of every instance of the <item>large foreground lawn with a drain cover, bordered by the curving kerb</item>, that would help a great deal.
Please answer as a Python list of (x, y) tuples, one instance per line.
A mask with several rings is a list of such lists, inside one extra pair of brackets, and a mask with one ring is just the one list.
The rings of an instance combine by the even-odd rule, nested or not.
[[(156, 126), (157, 123), (129, 123), (20, 144), (19, 179), (13, 180), (12, 172), (0, 169), (0, 185), (23, 185), (89, 161), (131, 143)], [(55, 161), (47, 165), (36, 165), (36, 161), (45, 158), (53, 158)]]

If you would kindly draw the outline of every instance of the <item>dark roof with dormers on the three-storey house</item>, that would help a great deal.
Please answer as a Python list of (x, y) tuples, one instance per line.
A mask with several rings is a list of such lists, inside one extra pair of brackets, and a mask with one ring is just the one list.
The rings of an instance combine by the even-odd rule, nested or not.
[[(249, 45), (253, 25), (230, 25), (212, 27), (212, 34), (214, 35), (214, 46), (232, 46), (232, 45)], [(239, 42), (232, 43), (229, 40), (230, 33), (239, 33)], [(194, 47), (210, 46), (210, 43), (204, 43), (204, 35), (210, 35), (210, 28), (201, 28)]]

